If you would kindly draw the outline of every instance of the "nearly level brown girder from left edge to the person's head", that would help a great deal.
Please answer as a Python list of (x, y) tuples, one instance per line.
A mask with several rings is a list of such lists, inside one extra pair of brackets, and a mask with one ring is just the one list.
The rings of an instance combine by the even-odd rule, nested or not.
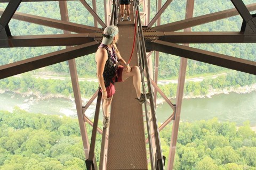
[(43, 46), (76, 46), (94, 41), (89, 33), (38, 35), (38, 36), (11, 36), (7, 40), (0, 39), (2, 47), (43, 47)]

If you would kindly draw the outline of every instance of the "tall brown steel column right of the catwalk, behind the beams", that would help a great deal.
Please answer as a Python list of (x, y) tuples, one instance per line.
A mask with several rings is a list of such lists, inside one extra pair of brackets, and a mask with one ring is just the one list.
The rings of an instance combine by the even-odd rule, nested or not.
[[(194, 12), (194, 3), (195, 0), (187, 0), (186, 7), (186, 16), (185, 18), (192, 18)], [(187, 28), (184, 31), (191, 31), (191, 28)], [(189, 44), (184, 44), (189, 46)], [(179, 124), (180, 124), (180, 113), (181, 113), (181, 105), (184, 91), (184, 84), (186, 78), (186, 68), (187, 68), (187, 58), (180, 58), (180, 70), (179, 70), (179, 79), (178, 79), (178, 88), (177, 88), (177, 97), (176, 97), (176, 113), (174, 116), (174, 121), (172, 125), (172, 138), (170, 143), (170, 151), (169, 151), (169, 160), (168, 160), (168, 169), (173, 169), (174, 156), (178, 138)]]

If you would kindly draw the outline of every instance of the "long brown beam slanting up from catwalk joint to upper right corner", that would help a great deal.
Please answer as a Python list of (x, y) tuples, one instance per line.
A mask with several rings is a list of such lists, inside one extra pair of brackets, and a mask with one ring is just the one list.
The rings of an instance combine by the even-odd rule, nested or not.
[[(254, 10), (256, 10), (256, 3), (246, 5), (246, 7), (249, 11), (254, 11)], [(157, 31), (178, 31), (178, 30), (182, 30), (185, 28), (194, 27), (196, 25), (229, 18), (231, 16), (235, 16), (238, 14), (239, 13), (237, 12), (236, 8), (233, 8), (230, 10), (215, 12), (215, 13), (211, 13), (211, 14), (207, 14), (207, 15), (197, 16), (197, 17), (190, 18), (190, 19), (185, 19), (185, 20), (181, 20), (181, 21), (177, 21), (177, 22), (163, 24), (163, 25), (159, 25), (156, 27), (152, 27), (152, 28)]]

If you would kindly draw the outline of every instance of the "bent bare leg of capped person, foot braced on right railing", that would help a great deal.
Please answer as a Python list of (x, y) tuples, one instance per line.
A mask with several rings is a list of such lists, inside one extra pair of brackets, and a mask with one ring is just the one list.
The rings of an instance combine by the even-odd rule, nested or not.
[(140, 69), (138, 66), (131, 66), (132, 71), (129, 73), (125, 72), (125, 69), (122, 72), (122, 81), (125, 79), (132, 77), (133, 86), (135, 88), (137, 97), (140, 98), (141, 95), (141, 75)]

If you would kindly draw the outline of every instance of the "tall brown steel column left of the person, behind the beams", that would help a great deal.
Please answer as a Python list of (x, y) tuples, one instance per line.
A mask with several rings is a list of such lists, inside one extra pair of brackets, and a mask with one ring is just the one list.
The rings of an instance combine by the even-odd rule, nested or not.
[[(59, 6), (60, 6), (60, 13), (61, 13), (61, 20), (69, 21), (67, 2), (66, 1), (59, 1)], [(69, 31), (64, 31), (64, 33), (70, 33), (70, 32)], [(69, 48), (69, 46), (67, 46), (67, 48)], [(78, 122), (79, 122), (80, 130), (81, 130), (81, 137), (82, 137), (82, 141), (83, 141), (85, 157), (88, 158), (90, 146), (89, 146), (89, 140), (88, 140), (88, 137), (87, 137), (86, 126), (85, 126), (85, 123), (83, 121), (83, 112), (82, 112), (82, 107), (83, 106), (82, 106), (82, 99), (81, 99), (81, 94), (80, 94), (80, 88), (79, 88), (79, 82), (78, 82), (75, 59), (69, 60), (68, 65), (69, 65), (69, 70), (70, 70), (71, 82), (72, 82), (72, 86), (73, 86), (77, 117), (78, 117)]]

